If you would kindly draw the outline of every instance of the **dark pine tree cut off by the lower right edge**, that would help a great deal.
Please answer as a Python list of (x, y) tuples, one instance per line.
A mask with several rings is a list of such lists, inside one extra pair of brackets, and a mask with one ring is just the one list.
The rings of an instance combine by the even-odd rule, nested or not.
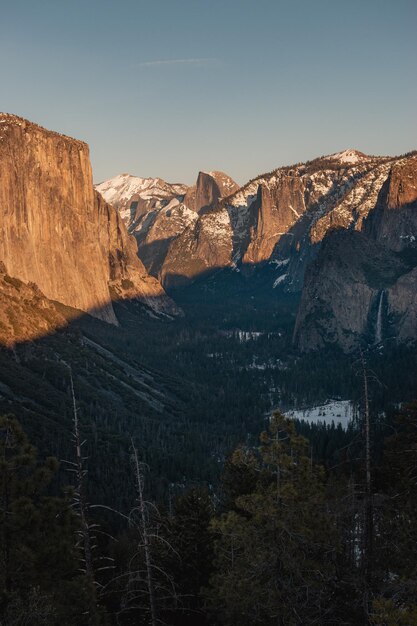
[(373, 624), (417, 625), (417, 402), (385, 441), (375, 540)]

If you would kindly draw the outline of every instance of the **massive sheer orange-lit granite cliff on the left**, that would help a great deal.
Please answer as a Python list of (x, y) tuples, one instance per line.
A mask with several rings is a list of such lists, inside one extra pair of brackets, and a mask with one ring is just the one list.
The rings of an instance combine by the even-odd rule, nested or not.
[(118, 212), (93, 188), (88, 146), (0, 114), (0, 261), (46, 298), (117, 323), (112, 298), (174, 312)]

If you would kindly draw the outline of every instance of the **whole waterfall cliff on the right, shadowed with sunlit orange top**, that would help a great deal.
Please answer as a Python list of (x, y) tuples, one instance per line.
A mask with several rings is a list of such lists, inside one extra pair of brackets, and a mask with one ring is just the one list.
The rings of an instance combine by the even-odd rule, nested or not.
[(417, 157), (390, 168), (362, 232), (329, 232), (307, 272), (294, 338), (333, 343), (417, 339)]

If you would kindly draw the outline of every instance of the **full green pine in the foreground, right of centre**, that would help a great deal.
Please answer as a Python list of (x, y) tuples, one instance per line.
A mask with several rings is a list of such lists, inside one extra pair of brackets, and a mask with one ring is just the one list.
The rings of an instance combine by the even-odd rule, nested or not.
[(256, 487), (213, 523), (212, 606), (228, 626), (333, 623), (336, 541), (324, 473), (281, 413), (262, 433), (249, 470), (258, 474)]

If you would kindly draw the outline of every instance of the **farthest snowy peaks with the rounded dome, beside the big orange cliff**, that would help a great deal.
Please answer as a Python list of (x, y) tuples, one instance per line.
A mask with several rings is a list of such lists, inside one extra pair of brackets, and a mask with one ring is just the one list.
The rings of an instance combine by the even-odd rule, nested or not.
[(224, 172), (199, 172), (188, 188), (121, 174), (96, 189), (119, 208), (140, 259), (164, 286), (232, 263), (230, 220), (220, 203), (239, 186)]

